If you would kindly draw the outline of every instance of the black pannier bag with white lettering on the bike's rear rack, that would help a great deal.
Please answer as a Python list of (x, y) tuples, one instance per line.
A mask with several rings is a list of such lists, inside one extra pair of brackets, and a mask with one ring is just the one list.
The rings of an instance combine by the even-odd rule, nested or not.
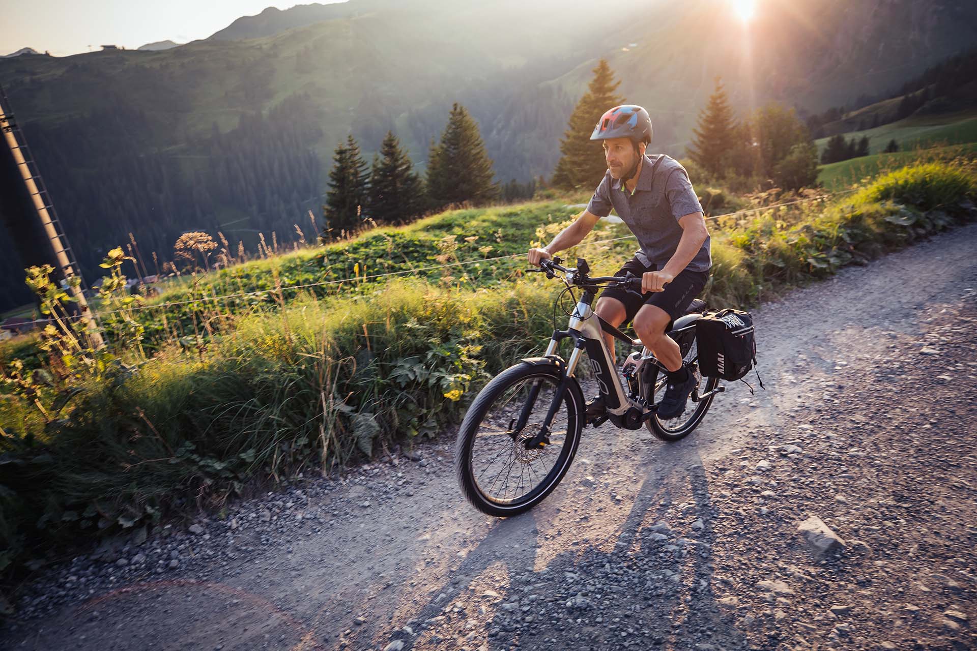
[(696, 345), (703, 376), (740, 380), (756, 364), (753, 317), (732, 307), (706, 312), (696, 321)]

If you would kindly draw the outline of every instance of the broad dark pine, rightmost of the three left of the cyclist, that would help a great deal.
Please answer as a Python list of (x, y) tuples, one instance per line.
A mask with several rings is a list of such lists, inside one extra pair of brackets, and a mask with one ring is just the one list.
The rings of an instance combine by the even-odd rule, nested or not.
[(454, 102), (441, 142), (431, 143), (428, 195), (438, 206), (464, 201), (486, 203), (498, 196), (494, 176), (479, 125), (464, 106)]

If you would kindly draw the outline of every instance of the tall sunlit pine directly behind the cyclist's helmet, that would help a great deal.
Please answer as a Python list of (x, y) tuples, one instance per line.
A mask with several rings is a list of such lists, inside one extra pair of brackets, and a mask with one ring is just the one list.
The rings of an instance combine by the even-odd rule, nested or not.
[(556, 187), (594, 188), (607, 172), (601, 142), (591, 141), (590, 134), (605, 111), (624, 101), (615, 93), (620, 82), (615, 81), (614, 71), (607, 61), (598, 62), (593, 73), (594, 78), (590, 80), (587, 92), (576, 102), (560, 142), (562, 156), (551, 182)]

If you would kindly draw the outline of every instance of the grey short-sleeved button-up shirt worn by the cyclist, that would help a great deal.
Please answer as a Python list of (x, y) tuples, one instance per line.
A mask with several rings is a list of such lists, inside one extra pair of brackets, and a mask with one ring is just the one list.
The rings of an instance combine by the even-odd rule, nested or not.
[[(612, 208), (638, 238), (641, 248), (635, 252), (635, 258), (658, 270), (671, 260), (682, 239), (679, 218), (702, 212), (699, 197), (682, 164), (665, 154), (649, 156), (647, 153), (633, 194), (619, 179), (612, 178), (608, 170), (587, 204), (587, 211), (597, 217), (607, 217)], [(712, 265), (709, 239), (706, 235), (687, 269), (707, 271)]]

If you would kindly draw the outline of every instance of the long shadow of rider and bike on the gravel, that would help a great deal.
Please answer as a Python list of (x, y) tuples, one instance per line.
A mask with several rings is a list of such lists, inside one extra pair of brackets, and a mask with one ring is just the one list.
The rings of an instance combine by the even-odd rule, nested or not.
[[(694, 446), (681, 443), (668, 450), (670, 468), (649, 475), (642, 482), (620, 525), (613, 549), (606, 549), (604, 544), (585, 544), (557, 553), (545, 563), (545, 568), (533, 569), (539, 530), (547, 530), (545, 523), (555, 515), (558, 505), (544, 502), (529, 513), (496, 521), (478, 547), (451, 574), (450, 581), (440, 590), (433, 590), (431, 598), (414, 616), (421, 630), (415, 630), (414, 636), (399, 635), (404, 649), (438, 648), (443, 640), (457, 637), (458, 644), (471, 645), (473, 649), (483, 643), (489, 649), (514, 644), (560, 649), (570, 648), (569, 645), (643, 647), (648, 642), (678, 643), (691, 639), (694, 632), (705, 633), (706, 640), (711, 633), (723, 648), (747, 646), (732, 614), (716, 602), (711, 547), (715, 516), (699, 453)], [(640, 468), (638, 465), (636, 469)], [(693, 499), (685, 503), (687, 508), (681, 519), (684, 522), (701, 518), (703, 527), (682, 533), (672, 496), (688, 492), (688, 488)], [(573, 496), (567, 495), (563, 505), (572, 501)], [(668, 522), (671, 530), (663, 531), (656, 524), (666, 520), (669, 512), (674, 521)], [(657, 534), (668, 538), (660, 540)], [(606, 563), (613, 570), (621, 569), (624, 581), (612, 576), (605, 569)], [(500, 597), (488, 598), (484, 591), (474, 588), (473, 582), (485, 585), (482, 575), (502, 570), (509, 581), (497, 588)], [(570, 588), (568, 572), (579, 579)], [(586, 582), (595, 574), (599, 575), (601, 586), (591, 591)], [(547, 601), (555, 595), (560, 596)], [(686, 600), (688, 595), (692, 595), (691, 602)], [(455, 611), (453, 605), (458, 601), (463, 609)], [(484, 623), (486, 615), (480, 606), (487, 608), (485, 613), (493, 611), (490, 622)], [(525, 606), (529, 608), (524, 611)], [(545, 614), (540, 612), (543, 609)], [(612, 624), (615, 618), (619, 621)], [(543, 626), (539, 625), (540, 619)], [(466, 629), (469, 620), (477, 625)], [(488, 631), (495, 634), (487, 638)], [(556, 641), (548, 642), (552, 637)]]

